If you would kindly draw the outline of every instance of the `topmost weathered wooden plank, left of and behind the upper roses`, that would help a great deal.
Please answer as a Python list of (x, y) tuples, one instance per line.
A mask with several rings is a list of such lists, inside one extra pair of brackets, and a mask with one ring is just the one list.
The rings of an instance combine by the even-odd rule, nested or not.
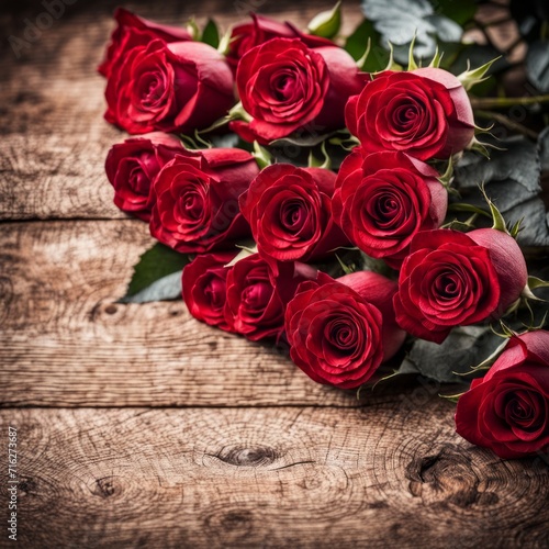
[[(206, 0), (137, 2), (133, 9), (171, 24), (183, 23), (193, 14), (201, 24), (206, 16), (215, 16), (227, 29), (251, 10), (305, 25), (332, 3)], [(37, 30), (36, 41), (26, 41), (27, 46), (12, 49), (9, 42), (2, 42), (0, 219), (124, 217), (112, 204), (103, 165), (110, 146), (125, 134), (103, 121), (104, 79), (96, 72), (113, 27), (114, 5), (67, 5), (48, 29)], [(43, 12), (44, 5), (37, 1), (14, 8), (12, 18), (2, 21), (5, 15), (0, 16), (2, 36), (25, 41), (32, 36), (27, 27)], [(346, 30), (350, 31), (359, 18), (358, 5), (350, 4), (346, 14)]]

